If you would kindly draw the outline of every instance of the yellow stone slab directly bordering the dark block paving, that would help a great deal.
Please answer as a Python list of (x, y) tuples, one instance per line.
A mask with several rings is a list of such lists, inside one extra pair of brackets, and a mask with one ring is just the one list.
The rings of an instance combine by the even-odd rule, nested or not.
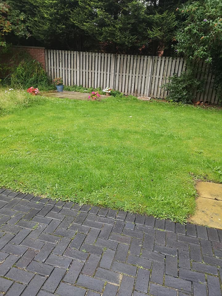
[(222, 229), (222, 201), (199, 196), (195, 215), (188, 222)]

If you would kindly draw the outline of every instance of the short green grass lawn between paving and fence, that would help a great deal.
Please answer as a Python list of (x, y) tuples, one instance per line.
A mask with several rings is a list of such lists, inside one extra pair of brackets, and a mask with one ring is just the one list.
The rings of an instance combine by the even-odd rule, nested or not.
[(45, 99), (0, 117), (0, 186), (184, 222), (222, 182), (222, 110)]

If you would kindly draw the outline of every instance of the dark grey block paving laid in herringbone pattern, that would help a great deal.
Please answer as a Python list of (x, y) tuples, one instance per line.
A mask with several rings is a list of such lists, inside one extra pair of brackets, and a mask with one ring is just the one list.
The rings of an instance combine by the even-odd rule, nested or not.
[(4, 189), (0, 222), (0, 295), (222, 295), (218, 229)]

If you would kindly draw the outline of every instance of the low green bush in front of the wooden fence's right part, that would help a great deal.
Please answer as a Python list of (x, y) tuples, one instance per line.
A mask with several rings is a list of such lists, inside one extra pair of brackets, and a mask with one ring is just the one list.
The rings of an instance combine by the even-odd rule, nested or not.
[(203, 91), (203, 81), (199, 81), (194, 77), (192, 71), (182, 72), (180, 76), (175, 74), (169, 77), (169, 82), (162, 86), (170, 91), (167, 100), (191, 104), (194, 99), (194, 88), (197, 89), (197, 92)]

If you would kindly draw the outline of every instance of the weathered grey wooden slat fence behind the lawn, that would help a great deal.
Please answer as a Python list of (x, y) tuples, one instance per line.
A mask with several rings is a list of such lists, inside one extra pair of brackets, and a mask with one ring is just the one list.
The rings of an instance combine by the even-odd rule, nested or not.
[[(186, 70), (183, 58), (119, 55), (83, 51), (45, 50), (46, 71), (54, 79), (62, 77), (65, 85), (105, 88), (109, 86), (124, 94), (164, 99), (167, 91), (161, 85), (173, 74)], [(195, 93), (195, 101), (218, 99), (213, 90), (213, 74), (203, 62), (201, 78), (206, 78), (205, 90)]]

